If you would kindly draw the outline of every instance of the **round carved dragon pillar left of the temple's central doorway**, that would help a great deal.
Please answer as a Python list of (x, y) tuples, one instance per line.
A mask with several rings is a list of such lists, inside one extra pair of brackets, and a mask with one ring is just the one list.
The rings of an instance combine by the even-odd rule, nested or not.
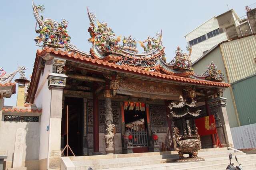
[(111, 91), (105, 90), (104, 92), (105, 97), (105, 111), (106, 111), (106, 131), (105, 131), (105, 152), (106, 154), (113, 154), (114, 153), (114, 121), (113, 121), (113, 113), (112, 113), (112, 106), (111, 106)]

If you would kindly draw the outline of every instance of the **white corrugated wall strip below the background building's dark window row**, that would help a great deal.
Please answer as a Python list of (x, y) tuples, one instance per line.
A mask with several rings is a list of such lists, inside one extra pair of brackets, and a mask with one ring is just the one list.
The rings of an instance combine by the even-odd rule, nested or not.
[(214, 37), (211, 37), (209, 39), (206, 39), (205, 41), (202, 41), (201, 43), (198, 43), (196, 45), (192, 46), (192, 54), (191, 54), (191, 61), (192, 63), (196, 61), (199, 57), (203, 55), (203, 52), (206, 50), (212, 49), (215, 45), (218, 43), (221, 43), (222, 41), (227, 40), (228, 37), (226, 33), (221, 33), (219, 35), (216, 35)]

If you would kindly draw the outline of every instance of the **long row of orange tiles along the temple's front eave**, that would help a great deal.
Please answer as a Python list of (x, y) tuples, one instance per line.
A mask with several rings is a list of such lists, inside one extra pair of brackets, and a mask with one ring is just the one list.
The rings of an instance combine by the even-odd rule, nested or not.
[[(180, 76), (176, 76), (177, 74), (175, 74), (175, 76), (174, 76), (174, 75), (162, 74), (162, 73), (157, 73), (157, 72), (152, 72), (152, 71), (146, 71), (146, 70), (143, 70), (143, 69), (141, 69), (139, 67), (136, 67), (136, 66), (119, 65), (117, 67), (114, 67), (115, 64), (108, 63), (108, 61), (104, 62), (103, 60), (101, 60), (99, 57), (97, 57), (94, 54), (93, 50), (91, 50), (91, 52), (92, 52), (92, 55), (93, 55), (94, 59), (91, 59), (90, 57), (88, 58), (87, 56), (74, 54), (74, 53), (68, 53), (68, 54), (64, 53), (64, 52), (59, 53), (58, 51), (55, 51), (54, 48), (49, 48), (49, 47), (45, 47), (43, 50), (40, 50), (40, 51), (38, 50), (37, 55), (38, 56), (44, 56), (46, 53), (53, 53), (53, 54), (59, 55), (61, 57), (66, 57), (66, 58), (72, 57), (76, 60), (83, 61), (84, 63), (102, 65), (102, 66), (106, 66), (106, 67), (109, 67), (109, 68), (112, 68), (112, 69), (114, 68), (116, 70), (126, 70), (126, 71), (129, 70), (130, 72), (133, 71), (133, 72), (137, 72), (138, 74), (146, 74), (148, 76), (154, 76), (154, 77), (158, 77), (158, 78), (162, 78), (162, 79), (169, 79), (170, 78), (170, 79), (176, 80), (177, 82), (185, 82), (185, 80), (186, 80), (186, 82), (191, 82), (191, 83), (193, 82), (194, 84), (207, 84), (207, 85), (210, 85), (210, 86), (224, 86), (224, 87), (229, 87), (230, 86), (230, 84), (224, 83), (224, 82), (220, 82), (220, 83), (216, 84), (216, 82), (208, 81), (208, 80), (196, 80), (196, 79), (186, 78), (186, 77), (181, 78)], [(98, 61), (100, 61), (100, 62), (98, 62)]]

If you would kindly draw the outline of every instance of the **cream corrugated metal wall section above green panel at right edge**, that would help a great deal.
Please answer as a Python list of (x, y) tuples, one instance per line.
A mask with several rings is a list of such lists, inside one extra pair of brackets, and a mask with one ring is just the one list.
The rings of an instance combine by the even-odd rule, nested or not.
[(220, 45), (230, 83), (256, 74), (256, 35)]

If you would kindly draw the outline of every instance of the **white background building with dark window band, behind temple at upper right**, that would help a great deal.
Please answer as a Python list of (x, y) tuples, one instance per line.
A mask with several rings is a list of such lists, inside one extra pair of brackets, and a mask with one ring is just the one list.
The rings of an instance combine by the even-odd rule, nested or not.
[[(219, 16), (214, 16), (185, 35), (186, 42), (192, 47), (192, 63), (212, 49), (215, 45), (228, 39), (254, 33), (255, 11), (248, 8), (248, 18), (239, 18), (231, 9)], [(254, 25), (253, 29), (251, 24)]]

